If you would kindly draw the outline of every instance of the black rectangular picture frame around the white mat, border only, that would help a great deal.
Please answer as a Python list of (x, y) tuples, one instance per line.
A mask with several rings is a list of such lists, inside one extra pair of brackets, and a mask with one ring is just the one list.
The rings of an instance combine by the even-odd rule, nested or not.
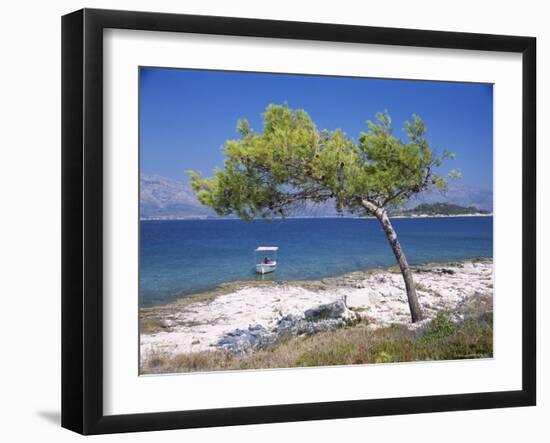
[[(103, 413), (103, 30), (191, 32), (522, 54), (522, 389), (109, 415)], [(536, 39), (83, 9), (62, 18), (62, 426), (82, 434), (229, 426), (536, 403)]]

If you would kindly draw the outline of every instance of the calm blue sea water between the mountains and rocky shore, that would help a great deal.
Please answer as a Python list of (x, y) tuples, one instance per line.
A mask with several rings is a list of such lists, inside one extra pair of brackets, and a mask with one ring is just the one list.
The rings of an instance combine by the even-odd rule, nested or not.
[[(493, 254), (492, 217), (394, 219), (411, 264)], [(255, 278), (309, 280), (388, 267), (395, 259), (374, 219), (142, 221), (140, 298), (159, 304)], [(257, 276), (254, 249), (279, 246), (274, 274)]]

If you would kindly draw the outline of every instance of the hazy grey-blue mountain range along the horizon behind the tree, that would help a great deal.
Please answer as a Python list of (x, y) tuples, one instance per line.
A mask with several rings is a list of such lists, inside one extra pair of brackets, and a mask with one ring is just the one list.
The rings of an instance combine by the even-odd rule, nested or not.
[[(449, 190), (426, 192), (415, 196), (407, 205), (411, 210), (423, 203), (450, 203), (460, 207), (475, 207), (492, 212), (493, 195), (490, 191), (470, 188), (453, 183)], [(290, 215), (295, 217), (331, 217), (337, 212), (334, 204), (305, 204), (296, 208)], [(203, 206), (196, 198), (188, 183), (160, 175), (141, 175), (140, 177), (140, 217), (149, 220), (162, 219), (202, 219), (216, 218), (216, 213)]]

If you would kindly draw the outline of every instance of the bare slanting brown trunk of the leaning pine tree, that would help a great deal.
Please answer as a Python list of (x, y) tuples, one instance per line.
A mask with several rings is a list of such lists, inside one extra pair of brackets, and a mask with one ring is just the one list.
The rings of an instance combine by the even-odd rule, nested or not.
[(412, 322), (415, 323), (422, 320), (424, 318), (424, 315), (422, 314), (422, 308), (420, 307), (420, 303), (418, 303), (418, 297), (416, 296), (416, 286), (414, 284), (411, 268), (409, 267), (407, 257), (405, 257), (405, 253), (403, 252), (401, 244), (397, 239), (397, 234), (393, 229), (387, 212), (384, 208), (380, 208), (367, 200), (363, 200), (363, 206), (368, 211), (372, 212), (382, 225), (382, 228), (384, 229), (386, 237), (388, 238), (388, 241), (392, 248), (393, 254), (397, 259), (397, 263), (399, 263), (399, 268), (401, 269), (403, 280), (405, 280), (405, 288), (407, 289), (407, 299), (409, 301), (409, 308), (411, 310)]

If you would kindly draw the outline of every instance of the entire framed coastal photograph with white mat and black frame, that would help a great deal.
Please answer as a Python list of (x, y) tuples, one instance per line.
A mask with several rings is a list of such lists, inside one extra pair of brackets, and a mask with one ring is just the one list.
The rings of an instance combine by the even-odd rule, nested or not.
[(531, 37), (62, 20), (62, 425), (535, 405)]

